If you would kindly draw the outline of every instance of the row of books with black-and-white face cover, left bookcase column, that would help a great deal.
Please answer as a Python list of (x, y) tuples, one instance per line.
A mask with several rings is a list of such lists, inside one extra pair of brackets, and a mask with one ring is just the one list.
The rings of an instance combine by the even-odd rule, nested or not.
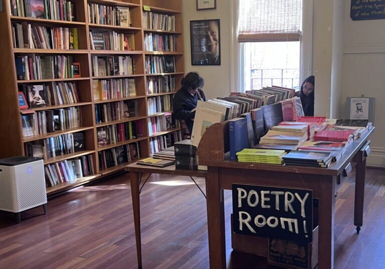
[(71, 104), (80, 102), (76, 82), (52, 82), (47, 84), (22, 84), (19, 91), (27, 96), (29, 107)]

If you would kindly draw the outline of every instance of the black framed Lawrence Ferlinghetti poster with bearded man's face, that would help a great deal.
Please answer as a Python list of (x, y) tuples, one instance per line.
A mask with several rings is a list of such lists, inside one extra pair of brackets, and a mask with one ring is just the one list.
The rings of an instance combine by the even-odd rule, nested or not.
[(219, 19), (190, 20), (192, 65), (221, 65)]

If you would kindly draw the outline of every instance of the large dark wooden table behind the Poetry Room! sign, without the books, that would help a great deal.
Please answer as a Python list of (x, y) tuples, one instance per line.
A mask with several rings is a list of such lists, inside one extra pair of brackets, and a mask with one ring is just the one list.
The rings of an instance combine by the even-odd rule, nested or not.
[[(223, 190), (232, 189), (234, 183), (312, 189), (313, 197), (319, 199), (318, 268), (333, 268), (335, 185), (350, 161), (357, 162), (354, 225), (359, 232), (363, 216), (366, 155), (370, 152), (367, 138), (373, 130), (374, 127), (371, 127), (349, 144), (341, 159), (328, 168), (224, 161), (224, 152), (228, 150), (228, 123), (216, 123), (206, 130), (197, 157), (199, 164), (208, 166), (209, 172), (206, 193), (210, 268), (226, 268)], [(223, 141), (218, 139), (221, 136)]]

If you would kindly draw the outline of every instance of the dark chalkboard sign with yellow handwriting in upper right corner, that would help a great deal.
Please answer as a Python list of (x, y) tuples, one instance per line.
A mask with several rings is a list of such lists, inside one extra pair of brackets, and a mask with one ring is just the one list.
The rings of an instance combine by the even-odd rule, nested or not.
[(351, 0), (352, 20), (385, 18), (385, 0)]

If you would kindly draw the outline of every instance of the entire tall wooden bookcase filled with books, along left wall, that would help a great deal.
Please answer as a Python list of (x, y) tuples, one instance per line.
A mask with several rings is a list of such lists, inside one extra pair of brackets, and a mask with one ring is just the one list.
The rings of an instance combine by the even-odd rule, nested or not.
[(180, 140), (181, 0), (4, 4), (0, 157), (42, 157), (49, 195)]

